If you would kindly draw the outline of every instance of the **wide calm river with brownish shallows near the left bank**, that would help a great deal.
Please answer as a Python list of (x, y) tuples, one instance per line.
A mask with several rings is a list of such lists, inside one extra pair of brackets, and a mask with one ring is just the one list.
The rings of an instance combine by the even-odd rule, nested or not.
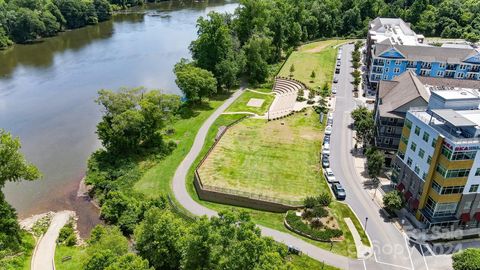
[(235, 1), (172, 1), (116, 15), (108, 22), (0, 51), (0, 128), (19, 136), (41, 180), (9, 183), (7, 200), (20, 217), (71, 209), (85, 234), (98, 211), (77, 188), (100, 144), (95, 104), (102, 88), (145, 86), (179, 93), (173, 74), (196, 37), (196, 20), (233, 12)]

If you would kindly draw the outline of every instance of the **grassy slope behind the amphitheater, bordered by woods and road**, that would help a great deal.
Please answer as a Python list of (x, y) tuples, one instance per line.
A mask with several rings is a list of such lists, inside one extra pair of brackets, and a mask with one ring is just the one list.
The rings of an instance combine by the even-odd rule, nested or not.
[[(337, 48), (334, 46), (349, 40), (324, 40), (305, 44), (294, 51), (280, 70), (280, 76), (289, 77), (290, 67), (295, 67), (293, 78), (302, 81), (308, 87), (316, 89), (325, 82), (331, 83), (335, 68)], [(310, 74), (315, 71), (316, 77), (311, 82)]]

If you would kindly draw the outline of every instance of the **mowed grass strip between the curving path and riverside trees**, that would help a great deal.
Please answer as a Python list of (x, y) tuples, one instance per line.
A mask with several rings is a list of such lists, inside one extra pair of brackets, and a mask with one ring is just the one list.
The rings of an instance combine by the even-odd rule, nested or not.
[(170, 155), (159, 160), (152, 168), (147, 170), (142, 178), (135, 183), (134, 189), (150, 198), (170, 194), (172, 192), (170, 185), (175, 170), (190, 151), (198, 130), (223, 102), (223, 99), (210, 100), (207, 104), (194, 108), (190, 117), (176, 121), (173, 124), (175, 132), (172, 135), (165, 136), (165, 140), (175, 141), (177, 147)]

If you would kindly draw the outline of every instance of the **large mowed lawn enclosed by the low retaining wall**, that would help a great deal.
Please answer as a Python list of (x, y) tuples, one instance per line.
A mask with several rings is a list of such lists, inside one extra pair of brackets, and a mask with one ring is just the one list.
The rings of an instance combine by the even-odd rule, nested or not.
[(319, 168), (322, 134), (311, 109), (279, 121), (243, 120), (200, 167), (202, 183), (301, 203), (328, 190)]

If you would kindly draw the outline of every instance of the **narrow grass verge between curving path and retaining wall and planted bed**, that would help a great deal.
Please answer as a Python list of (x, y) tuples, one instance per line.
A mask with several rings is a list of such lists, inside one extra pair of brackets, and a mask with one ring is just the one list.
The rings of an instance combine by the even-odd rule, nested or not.
[[(308, 243), (311, 243), (317, 247), (323, 248), (325, 250), (329, 250), (331, 252), (347, 256), (350, 258), (356, 258), (356, 248), (355, 248), (355, 243), (353, 242), (353, 237), (352, 234), (348, 231), (346, 223), (343, 221), (343, 218), (345, 217), (350, 217), (352, 218), (355, 226), (357, 225), (357, 229), (359, 229), (360, 235), (365, 238), (365, 244), (368, 244), (368, 239), (365, 236), (365, 232), (363, 231), (360, 222), (358, 219), (355, 217), (355, 215), (351, 212), (350, 208), (346, 206), (345, 204), (342, 203), (337, 203), (334, 202), (332, 203), (333, 208), (339, 208), (335, 209), (333, 211), (333, 214), (335, 215), (335, 218), (339, 221), (340, 227), (342, 230), (344, 230), (345, 234), (345, 240), (339, 243), (335, 243), (333, 246), (332, 250), (330, 250), (330, 244), (329, 243), (324, 243), (324, 242), (318, 242), (318, 241), (313, 241), (308, 238), (299, 236), (291, 231), (289, 231), (285, 226), (283, 225), (283, 217), (284, 214), (279, 214), (279, 213), (271, 213), (271, 212), (266, 212), (266, 211), (259, 211), (259, 210), (254, 210), (254, 209), (249, 209), (249, 208), (242, 208), (242, 207), (236, 207), (236, 206), (230, 206), (230, 205), (223, 205), (223, 204), (218, 204), (218, 203), (212, 203), (212, 202), (207, 202), (207, 201), (202, 201), (198, 198), (198, 195), (195, 191), (195, 188), (193, 186), (193, 173), (195, 170), (195, 167), (197, 164), (200, 162), (202, 157), (207, 153), (208, 149), (210, 146), (214, 143), (215, 141), (215, 135), (217, 134), (218, 127), (221, 125), (225, 125), (225, 122), (228, 121), (226, 117), (230, 117), (232, 115), (222, 115), (220, 116), (212, 125), (210, 128), (207, 138), (205, 140), (205, 144), (203, 145), (202, 151), (200, 152), (199, 156), (197, 157), (195, 163), (190, 167), (187, 175), (187, 179), (191, 179), (191, 181), (187, 181), (187, 190), (190, 194), (190, 196), (197, 201), (198, 203), (204, 205), (205, 207), (208, 207), (210, 209), (213, 209), (215, 211), (225, 211), (225, 210), (234, 210), (234, 211), (245, 211), (247, 212), (251, 217), (252, 220), (259, 225), (272, 228), (281, 232), (289, 233), (292, 234)], [(233, 119), (232, 119), (233, 120)], [(325, 180), (322, 179), (320, 182), (325, 183)], [(363, 240), (362, 237), (362, 240)], [(302, 256), (303, 258), (304, 256)], [(305, 256), (306, 257), (306, 256)], [(314, 260), (313, 260), (314, 261)], [(315, 261), (316, 262), (316, 261)], [(300, 268), (301, 269), (301, 268)], [(308, 269), (308, 268), (307, 268)], [(309, 269), (318, 269), (318, 268), (309, 268)], [(325, 269), (330, 269), (330, 268), (325, 268)], [(334, 269), (334, 268), (331, 268)]]

